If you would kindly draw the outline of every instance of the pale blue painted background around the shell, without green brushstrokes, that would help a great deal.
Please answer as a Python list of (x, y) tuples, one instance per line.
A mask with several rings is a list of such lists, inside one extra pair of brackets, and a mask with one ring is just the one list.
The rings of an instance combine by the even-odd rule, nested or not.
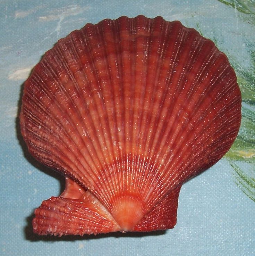
[(1, 1), (0, 10), (0, 255), (255, 255), (255, 203), (235, 183), (226, 158), (183, 185), (172, 230), (83, 238), (33, 234), (34, 209), (59, 195), (63, 179), (27, 153), (18, 125), (31, 69), (58, 39), (86, 23), (139, 14), (180, 20), (246, 69), (251, 60), (244, 39), (255, 41), (248, 15), (245, 20), (216, 0)]

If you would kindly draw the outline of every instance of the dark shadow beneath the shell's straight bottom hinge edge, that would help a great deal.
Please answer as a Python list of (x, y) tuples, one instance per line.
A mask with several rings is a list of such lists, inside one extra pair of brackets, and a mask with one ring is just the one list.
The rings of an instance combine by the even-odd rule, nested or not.
[(113, 232), (113, 233), (107, 233), (107, 234), (91, 234), (91, 235), (84, 235), (81, 236), (62, 236), (62, 237), (54, 237), (54, 236), (39, 236), (37, 234), (33, 233), (33, 227), (32, 227), (32, 220), (34, 218), (34, 214), (31, 214), (26, 218), (27, 225), (24, 228), (24, 234), (25, 239), (29, 240), (31, 242), (36, 241), (45, 241), (45, 242), (57, 242), (57, 241), (76, 241), (76, 240), (91, 240), (91, 239), (103, 239), (108, 237), (115, 237), (115, 238), (121, 238), (121, 237), (147, 237), (147, 236), (161, 236), (167, 232), (166, 230), (156, 230), (151, 232), (127, 232), (127, 233), (121, 233), (121, 232)]

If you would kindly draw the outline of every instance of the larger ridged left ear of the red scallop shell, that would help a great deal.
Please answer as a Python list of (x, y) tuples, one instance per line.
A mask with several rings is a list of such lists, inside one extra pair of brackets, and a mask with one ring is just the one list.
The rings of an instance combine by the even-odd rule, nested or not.
[(80, 235), (120, 231), (120, 226), (107, 209), (89, 191), (66, 179), (60, 197), (51, 197), (35, 210), (34, 233)]

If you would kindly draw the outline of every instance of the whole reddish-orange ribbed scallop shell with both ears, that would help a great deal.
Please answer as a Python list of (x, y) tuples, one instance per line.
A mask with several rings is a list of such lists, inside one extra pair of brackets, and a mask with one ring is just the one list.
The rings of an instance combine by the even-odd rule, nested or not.
[(34, 232), (173, 228), (181, 185), (229, 150), (240, 109), (226, 55), (178, 21), (120, 17), (70, 33), (25, 82), (28, 149), (66, 176)]

